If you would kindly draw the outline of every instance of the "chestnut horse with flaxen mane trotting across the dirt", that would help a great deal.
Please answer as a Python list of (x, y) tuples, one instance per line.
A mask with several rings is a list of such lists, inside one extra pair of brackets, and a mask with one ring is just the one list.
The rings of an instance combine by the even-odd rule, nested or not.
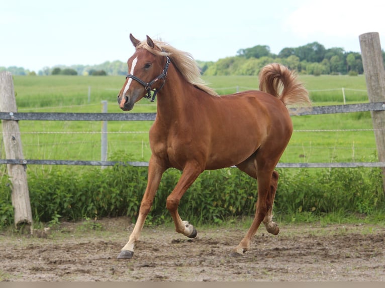
[(286, 67), (270, 64), (260, 72), (261, 91), (219, 96), (205, 85), (190, 54), (148, 36), (143, 42), (131, 34), (130, 39), (136, 50), (127, 61), (129, 74), (118, 95), (119, 106), (128, 111), (142, 97), (158, 97), (149, 132), (152, 155), (147, 188), (134, 230), (118, 258), (133, 256), (162, 174), (171, 167), (182, 171), (166, 202), (176, 232), (197, 236), (177, 210), (188, 187), (204, 170), (236, 166), (258, 179), (258, 199), (254, 220), (230, 255), (249, 249), (261, 222), (269, 233), (278, 234), (271, 213), (278, 181), (274, 168), (293, 132), (286, 105), (310, 104), (304, 86)]

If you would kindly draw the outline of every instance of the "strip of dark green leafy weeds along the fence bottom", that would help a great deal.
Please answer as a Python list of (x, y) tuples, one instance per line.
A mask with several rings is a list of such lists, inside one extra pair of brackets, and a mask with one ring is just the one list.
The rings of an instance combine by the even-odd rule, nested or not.
[[(279, 169), (278, 172), (273, 209), (277, 217), (306, 222), (328, 214), (385, 213), (380, 169)], [(180, 175), (176, 169), (164, 173), (147, 225), (172, 221), (166, 199)], [(147, 168), (116, 165), (83, 173), (53, 168), (49, 172), (29, 173), (28, 177), (35, 222), (52, 226), (61, 220), (117, 216), (129, 216), (135, 221), (147, 184)], [(13, 222), (11, 188), (7, 183), (8, 179), (3, 177), (1, 227)], [(253, 216), (256, 200), (257, 181), (238, 169), (205, 171), (182, 197), (178, 212), (190, 222), (220, 224), (228, 219)]]

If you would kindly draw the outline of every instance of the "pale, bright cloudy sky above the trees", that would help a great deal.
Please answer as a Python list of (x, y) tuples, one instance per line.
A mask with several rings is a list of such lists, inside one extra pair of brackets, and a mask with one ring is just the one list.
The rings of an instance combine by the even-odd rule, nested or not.
[(360, 52), (359, 35), (368, 32), (379, 33), (383, 49), (384, 8), (378, 0), (0, 0), (0, 67), (126, 62), (130, 33), (201, 61), (256, 45), (274, 54), (312, 42)]

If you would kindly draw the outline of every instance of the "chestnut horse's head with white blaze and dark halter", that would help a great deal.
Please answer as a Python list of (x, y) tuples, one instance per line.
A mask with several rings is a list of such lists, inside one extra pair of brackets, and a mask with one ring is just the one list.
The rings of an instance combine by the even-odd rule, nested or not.
[(150, 37), (140, 42), (130, 34), (130, 40), (136, 50), (127, 61), (128, 74), (118, 94), (119, 107), (124, 111), (131, 110), (143, 97), (154, 101), (156, 92), (164, 85), (170, 64), (168, 56), (163, 56), (166, 53), (156, 47)]

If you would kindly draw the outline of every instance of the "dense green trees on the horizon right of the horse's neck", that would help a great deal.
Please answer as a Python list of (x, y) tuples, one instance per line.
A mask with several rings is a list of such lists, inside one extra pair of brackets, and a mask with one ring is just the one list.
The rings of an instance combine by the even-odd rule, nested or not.
[[(385, 53), (382, 51), (383, 58)], [(258, 75), (268, 63), (279, 62), (301, 74), (349, 74), (363, 73), (361, 54), (345, 52), (343, 48), (326, 49), (318, 42), (297, 48), (283, 48), (277, 55), (269, 46), (257, 45), (240, 49), (234, 57), (219, 59), (217, 62), (201, 62), (204, 75)], [(384, 63), (385, 66), (385, 63)]]

